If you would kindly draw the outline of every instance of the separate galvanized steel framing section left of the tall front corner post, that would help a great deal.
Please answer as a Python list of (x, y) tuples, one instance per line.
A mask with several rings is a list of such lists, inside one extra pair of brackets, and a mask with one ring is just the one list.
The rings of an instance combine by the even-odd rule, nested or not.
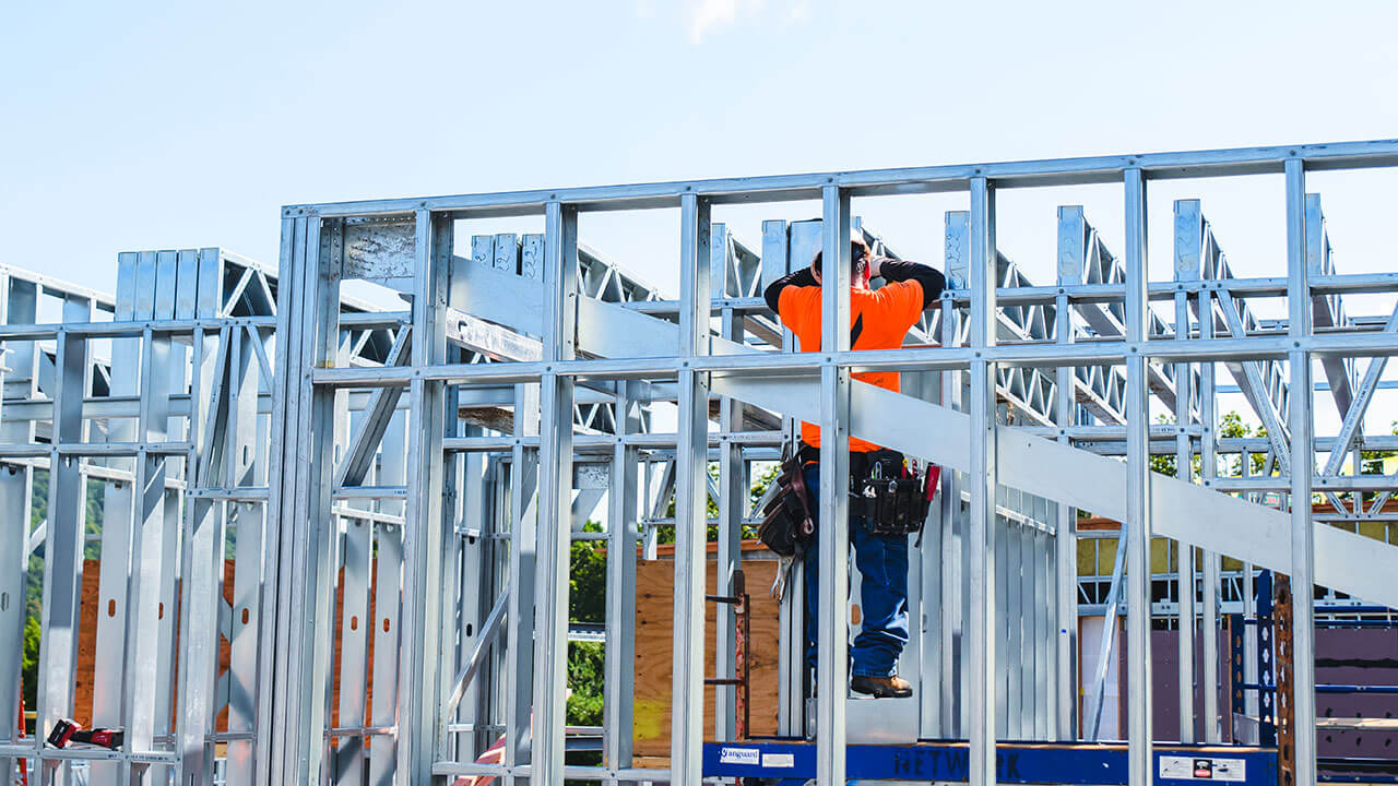
[[(206, 248), (119, 255), (116, 298), (17, 269), (0, 278), (11, 355), (0, 455), (4, 476), (22, 481), (4, 487), (21, 568), (0, 590), (3, 652), (18, 652), (24, 564), (41, 550), (62, 555), (43, 558), (41, 641), (49, 653), (36, 724), (46, 731), (55, 717), (77, 716), (127, 730), (117, 751), (59, 751), (43, 747), (42, 734), (15, 740), (7, 731), (4, 769), (20, 759), (42, 782), (69, 782), (74, 765), (88, 765), (92, 783), (201, 783), (214, 778), (217, 744), (225, 745), (219, 776), (246, 780), (254, 703), (266, 691), (259, 593), (275, 274)], [(45, 324), (38, 306), (53, 301), (63, 322)], [(362, 303), (345, 309), (363, 313)], [(359, 350), (347, 359), (366, 362)], [(55, 466), (63, 471), (53, 473), (49, 502), (57, 495), (63, 505), (49, 519), (75, 520), (82, 537), (48, 520), (29, 531), (29, 477)], [(94, 503), (99, 517), (84, 510)], [(75, 708), (67, 642), (80, 632), (71, 593), (82, 586), (84, 562), (105, 569), (94, 587), (95, 628), (81, 628), (99, 655), (92, 705)], [(18, 683), (6, 671), (13, 712)], [(225, 709), (226, 726), (215, 724)]]

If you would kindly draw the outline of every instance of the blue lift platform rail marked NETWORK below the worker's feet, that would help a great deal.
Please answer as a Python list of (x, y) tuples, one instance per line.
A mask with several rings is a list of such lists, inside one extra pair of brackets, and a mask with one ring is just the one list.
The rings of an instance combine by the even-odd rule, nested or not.
[[(849, 745), (846, 773), (870, 780), (965, 782), (966, 743)], [(1001, 743), (995, 754), (1000, 783), (1125, 785), (1127, 747), (1074, 743)], [(1162, 786), (1216, 783), (1276, 786), (1276, 750), (1233, 745), (1156, 745), (1155, 782)], [(706, 743), (703, 773), (774, 778), (802, 783), (815, 778), (815, 744), (754, 740)]]

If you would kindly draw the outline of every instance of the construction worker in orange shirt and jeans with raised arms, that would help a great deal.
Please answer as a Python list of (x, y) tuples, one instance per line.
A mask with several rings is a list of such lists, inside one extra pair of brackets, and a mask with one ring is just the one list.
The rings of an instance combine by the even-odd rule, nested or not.
[[(850, 242), (850, 347), (853, 350), (892, 350), (903, 345), (903, 337), (917, 324), (923, 310), (942, 294), (946, 278), (937, 270), (914, 262), (899, 262), (875, 256), (856, 234)], [(870, 288), (871, 278), (884, 278), (885, 285)], [(800, 351), (821, 350), (821, 253), (811, 267), (779, 278), (763, 296), (781, 323), (800, 341)], [(886, 390), (899, 389), (898, 372), (861, 372), (856, 380)], [(815, 424), (801, 424), (801, 460), (804, 478), (812, 502), (819, 498), (821, 429)], [(881, 473), (896, 473), (903, 467), (903, 456), (885, 450), (872, 442), (850, 438), (850, 477), (854, 483)], [(898, 477), (889, 474), (886, 477)], [(854, 502), (854, 501), (851, 501)], [(812, 505), (816, 509), (818, 505)], [(860, 607), (863, 620), (860, 635), (850, 649), (850, 688), (875, 698), (910, 696), (913, 687), (898, 676), (898, 657), (907, 645), (907, 541), (909, 534), (875, 533), (868, 526), (867, 513), (857, 515), (851, 505), (850, 540), (854, 562), (860, 569)], [(819, 526), (819, 522), (816, 522)], [(819, 541), (819, 537), (814, 538)], [(815, 669), (818, 613), (818, 564), (815, 543), (804, 554), (805, 575), (805, 662)]]

